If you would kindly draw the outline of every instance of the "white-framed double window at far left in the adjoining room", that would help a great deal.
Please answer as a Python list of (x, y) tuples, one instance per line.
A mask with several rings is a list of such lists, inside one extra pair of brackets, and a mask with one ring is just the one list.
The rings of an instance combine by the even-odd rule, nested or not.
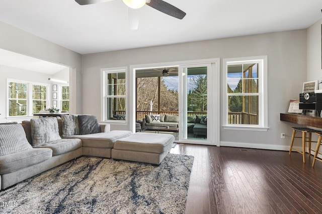
[(8, 81), (8, 116), (32, 116), (47, 108), (48, 85)]

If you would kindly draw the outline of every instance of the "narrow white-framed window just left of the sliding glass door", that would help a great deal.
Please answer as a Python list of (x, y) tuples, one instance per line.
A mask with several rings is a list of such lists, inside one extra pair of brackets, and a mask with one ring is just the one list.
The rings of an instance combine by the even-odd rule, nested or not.
[(126, 120), (126, 70), (105, 70), (104, 120)]

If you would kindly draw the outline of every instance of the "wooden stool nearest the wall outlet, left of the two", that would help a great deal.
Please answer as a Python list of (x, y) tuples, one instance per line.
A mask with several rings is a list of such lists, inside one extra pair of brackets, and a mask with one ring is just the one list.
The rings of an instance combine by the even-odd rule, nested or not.
[[(311, 142), (317, 142), (317, 141), (311, 141), (312, 132), (313, 133), (320, 133), (318, 130), (311, 129), (311, 128), (301, 128), (301, 127), (292, 127), (293, 133), (292, 133), (292, 139), (291, 139), (291, 146), (289, 154), (291, 154), (292, 149), (301, 153), (303, 155), (303, 163), (305, 163), (305, 143), (308, 142), (308, 153), (311, 153)], [(296, 132), (302, 132), (302, 137), (295, 137)], [(306, 133), (308, 133), (308, 137), (306, 137)], [(321, 133), (322, 134), (322, 133)], [(302, 138), (302, 151), (299, 151), (297, 149), (293, 148), (293, 142), (294, 138)]]

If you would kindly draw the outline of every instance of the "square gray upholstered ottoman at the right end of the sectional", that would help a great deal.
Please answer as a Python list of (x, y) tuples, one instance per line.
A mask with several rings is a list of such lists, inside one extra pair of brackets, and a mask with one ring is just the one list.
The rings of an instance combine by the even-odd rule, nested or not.
[(159, 165), (172, 148), (172, 134), (136, 132), (118, 139), (112, 149), (112, 158)]

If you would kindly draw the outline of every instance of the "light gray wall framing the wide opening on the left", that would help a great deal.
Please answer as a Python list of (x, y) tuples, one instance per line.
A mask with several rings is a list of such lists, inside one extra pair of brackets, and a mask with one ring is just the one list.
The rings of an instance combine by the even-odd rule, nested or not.
[(71, 112), (82, 113), (82, 56), (80, 54), (3, 22), (0, 22), (0, 48), (73, 68), (69, 83), (73, 104)]

